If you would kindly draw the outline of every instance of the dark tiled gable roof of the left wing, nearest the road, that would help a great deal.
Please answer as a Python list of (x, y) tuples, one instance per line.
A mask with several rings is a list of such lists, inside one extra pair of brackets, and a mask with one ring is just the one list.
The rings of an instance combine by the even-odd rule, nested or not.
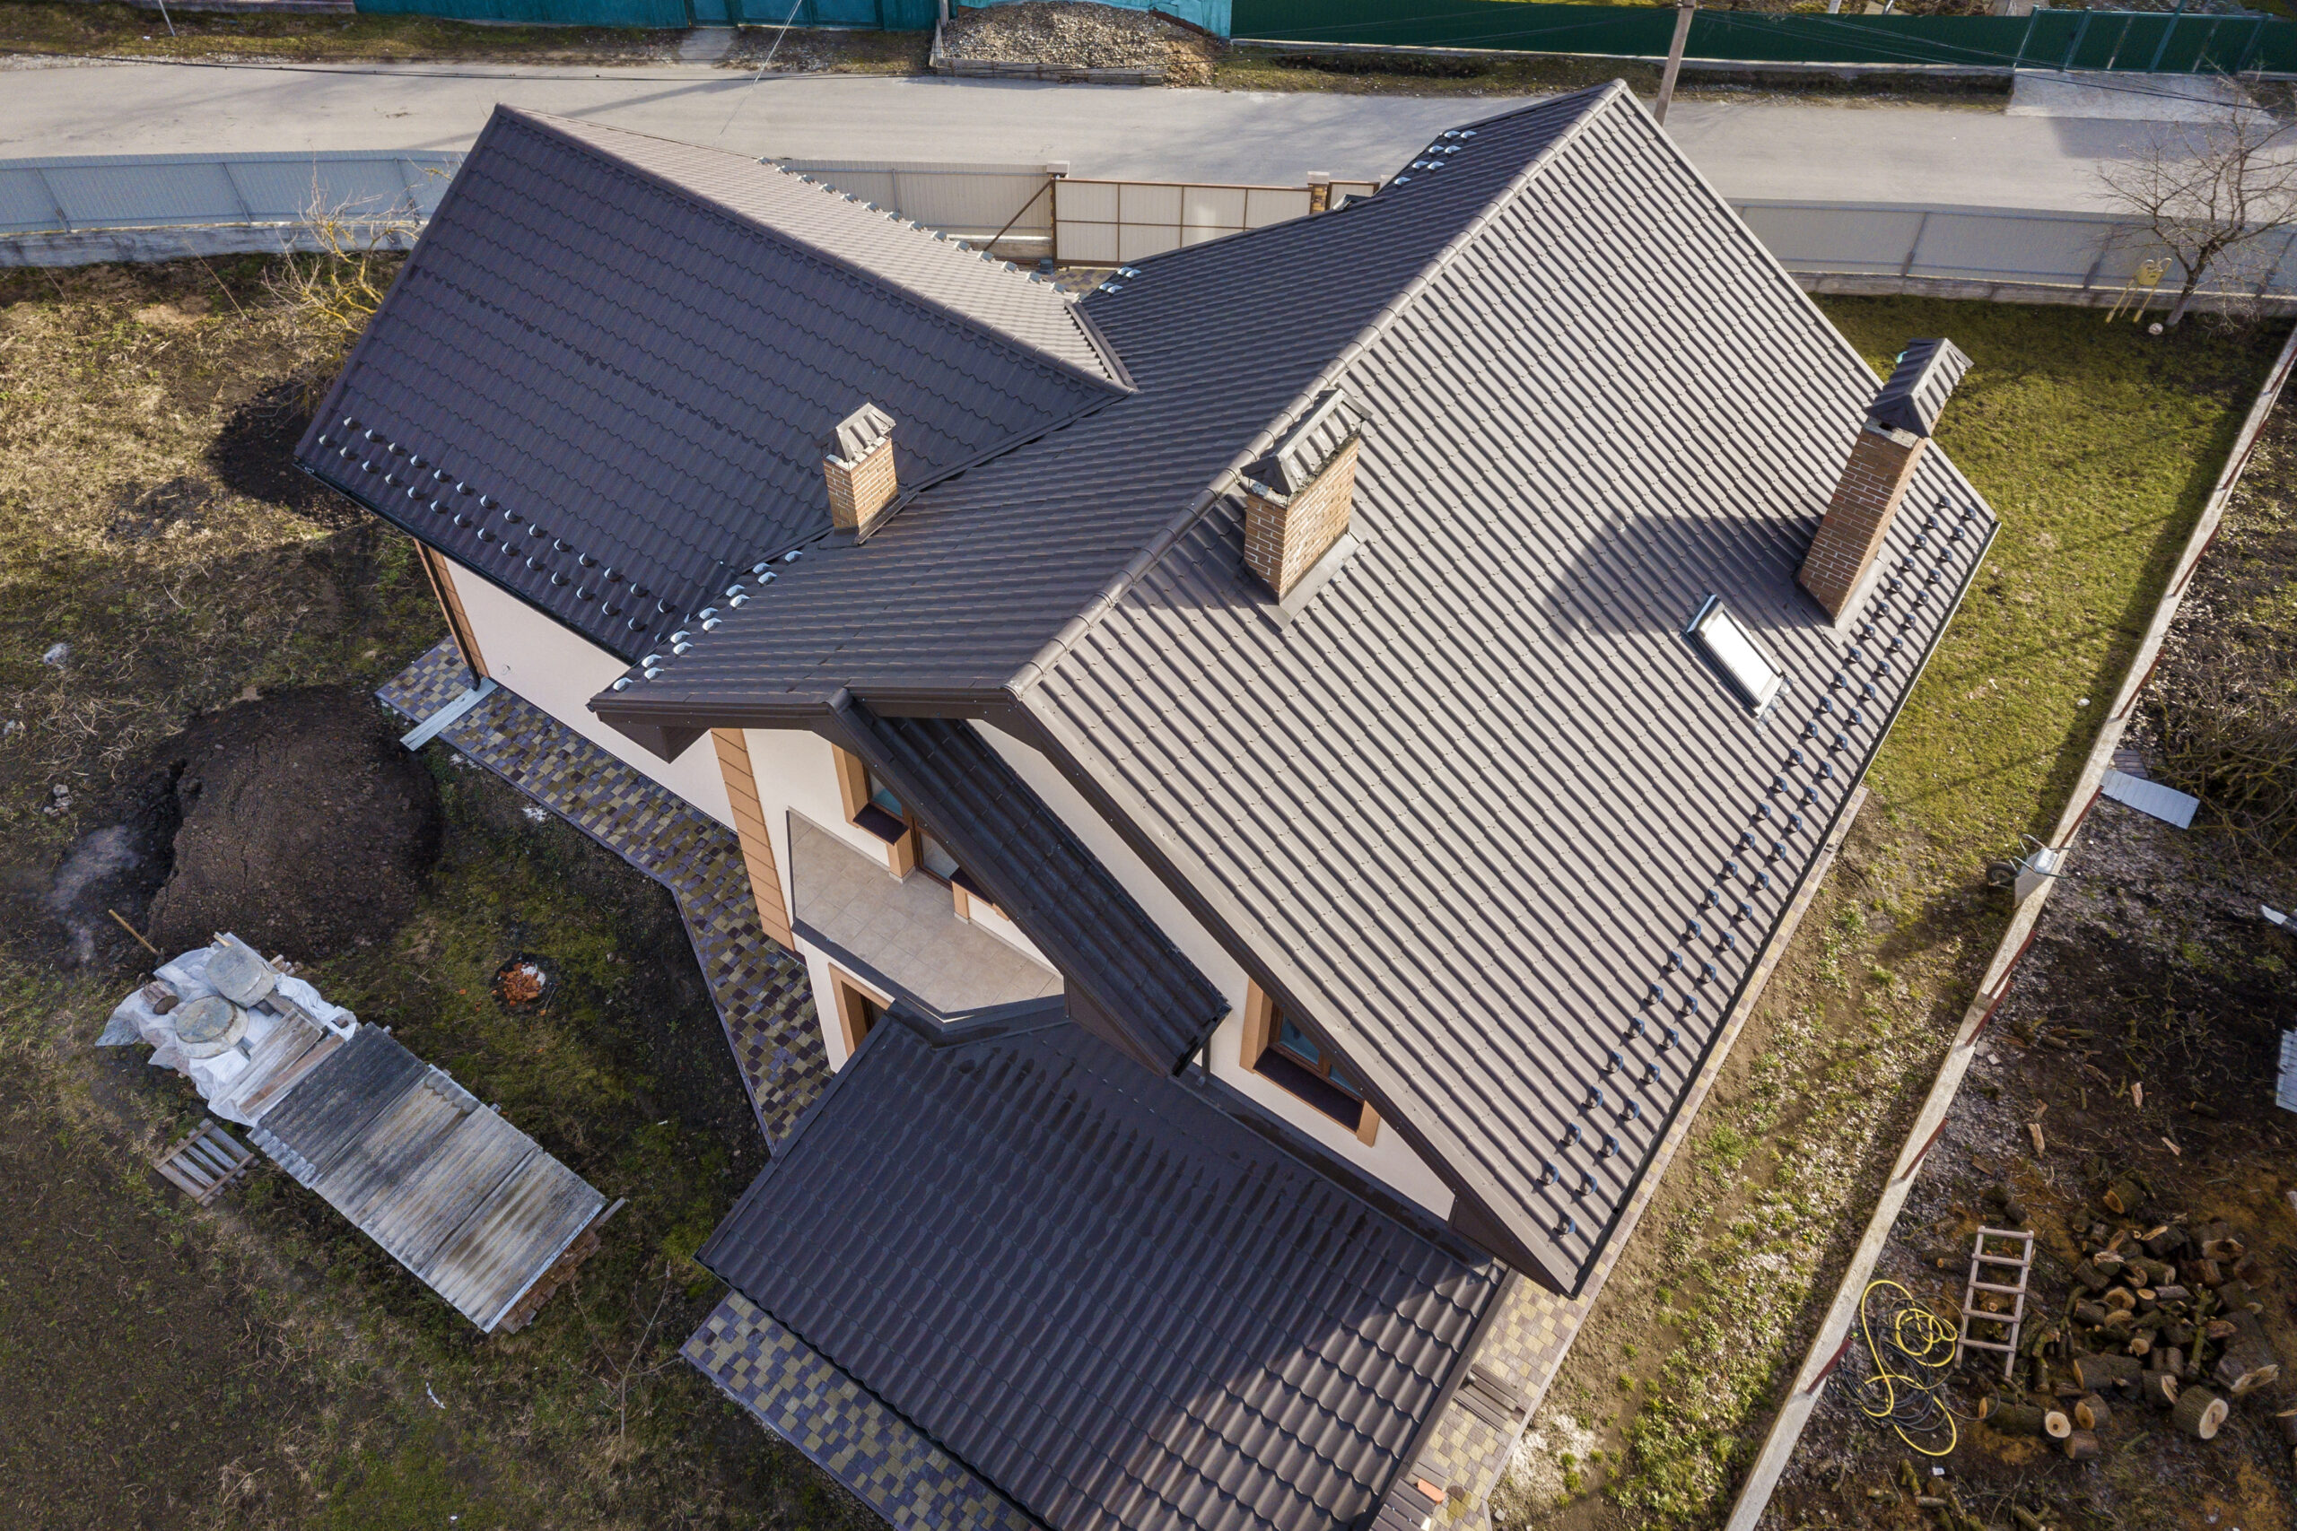
[(1052, 285), (740, 154), (496, 108), (296, 461), (634, 659), (829, 528), (864, 402), (914, 491), (1123, 393)]

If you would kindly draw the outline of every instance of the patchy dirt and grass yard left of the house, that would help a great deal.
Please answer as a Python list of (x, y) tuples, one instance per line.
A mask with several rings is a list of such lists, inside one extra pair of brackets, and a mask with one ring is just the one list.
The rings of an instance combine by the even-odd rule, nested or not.
[[(439, 852), (390, 897), (361, 893), (368, 842), (306, 847), (368, 920), (306, 976), (629, 1198), (604, 1249), (489, 1340), (269, 1164), (211, 1210), (147, 1168), (200, 1102), (145, 1049), (94, 1047), (149, 962), (103, 911), (140, 923), (172, 865), (80, 861), (87, 902), (60, 881), (110, 831), (145, 842), (147, 767), (186, 725), (278, 748), (264, 698), (301, 728), (322, 686), (340, 728), (390, 730), (368, 693), (441, 634), (407, 542), (285, 464), (340, 337), (273, 275), (0, 271), (0, 1508), (103, 1531), (871, 1524), (675, 1359), (719, 1292), (691, 1251), (763, 1161), (675, 904), (441, 746), (418, 767)], [(358, 741), (312, 744), (324, 767)], [(326, 783), (299, 787), (324, 817)], [(85, 941), (60, 907), (94, 916)], [(556, 996), (505, 1008), (489, 980), (528, 953)]]

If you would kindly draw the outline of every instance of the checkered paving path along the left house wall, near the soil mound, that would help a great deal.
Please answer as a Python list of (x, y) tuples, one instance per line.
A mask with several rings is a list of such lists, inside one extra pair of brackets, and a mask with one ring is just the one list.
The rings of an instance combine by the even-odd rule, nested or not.
[[(448, 640), (377, 695), (420, 721), (469, 686)], [(806, 966), (758, 925), (735, 833), (505, 689), (439, 737), (678, 897), (758, 1129), (779, 1150), (829, 1083), (829, 1054)]]

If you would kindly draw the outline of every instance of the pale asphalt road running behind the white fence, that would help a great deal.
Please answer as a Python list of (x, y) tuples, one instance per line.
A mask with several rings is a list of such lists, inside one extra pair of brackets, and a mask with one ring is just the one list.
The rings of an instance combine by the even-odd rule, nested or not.
[[(1387, 174), (1507, 99), (1114, 90), (1015, 80), (464, 67), (0, 69), (0, 156), (459, 149), (496, 101), (744, 154), (1070, 161), (1073, 174), (1298, 184)], [(2093, 165), (2134, 122), (1833, 103), (1677, 103), (1670, 129), (1727, 195), (2097, 207)]]

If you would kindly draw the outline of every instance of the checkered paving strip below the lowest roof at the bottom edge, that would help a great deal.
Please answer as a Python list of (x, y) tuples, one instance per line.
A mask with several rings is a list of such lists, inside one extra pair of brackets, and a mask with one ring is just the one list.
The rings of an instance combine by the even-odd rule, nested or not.
[(1029, 1515), (740, 1292), (680, 1354), (896, 1531), (1036, 1531)]

